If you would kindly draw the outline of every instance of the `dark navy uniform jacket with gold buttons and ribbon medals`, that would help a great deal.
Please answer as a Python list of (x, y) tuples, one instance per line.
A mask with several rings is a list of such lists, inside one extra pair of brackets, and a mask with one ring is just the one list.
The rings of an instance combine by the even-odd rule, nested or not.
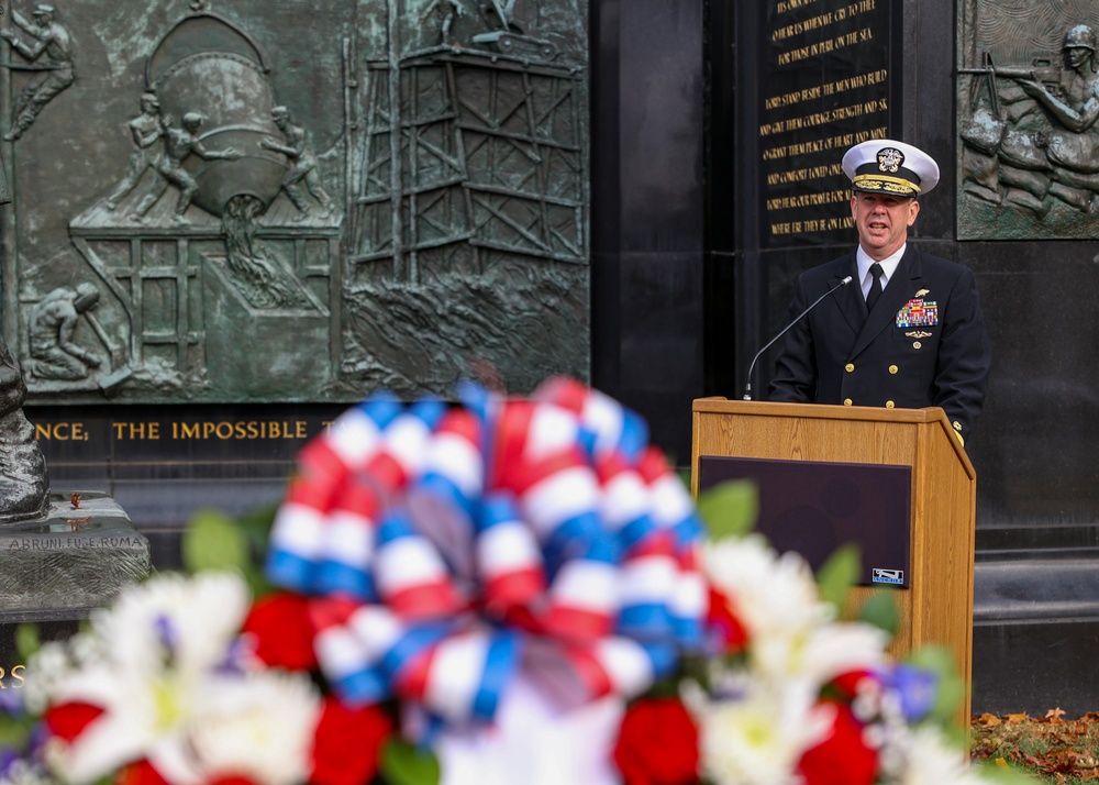
[(788, 321), (844, 276), (784, 340), (768, 397), (776, 401), (940, 406), (968, 438), (985, 401), (990, 353), (973, 273), (909, 243), (867, 313), (855, 254), (803, 273)]

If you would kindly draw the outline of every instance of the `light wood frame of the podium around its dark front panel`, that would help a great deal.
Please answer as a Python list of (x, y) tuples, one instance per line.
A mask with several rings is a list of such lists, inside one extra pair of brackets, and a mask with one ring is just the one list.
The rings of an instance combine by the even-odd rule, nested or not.
[[(703, 464), (710, 457), (759, 458), (762, 465), (818, 462), (831, 464), (831, 471), (840, 474), (848, 466), (852, 473), (867, 465), (909, 467), (907, 587), (859, 586), (852, 601), (857, 607), (873, 591), (893, 593), (901, 626), (892, 653), (902, 655), (929, 643), (945, 645), (954, 652), (968, 685), (977, 482), (942, 409), (700, 398), (693, 405), (692, 430), (691, 490), (696, 495), (700, 458)], [(786, 489), (793, 498), (802, 491), (800, 487)], [(842, 499), (829, 504), (837, 501)], [(804, 509), (812, 504), (807, 499)], [(967, 723), (968, 718), (967, 688), (962, 721)]]

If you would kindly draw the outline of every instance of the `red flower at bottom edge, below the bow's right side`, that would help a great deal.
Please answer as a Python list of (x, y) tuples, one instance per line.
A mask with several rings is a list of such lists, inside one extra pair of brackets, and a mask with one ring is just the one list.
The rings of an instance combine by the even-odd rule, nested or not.
[(698, 728), (677, 698), (647, 698), (626, 709), (614, 744), (625, 785), (698, 782)]

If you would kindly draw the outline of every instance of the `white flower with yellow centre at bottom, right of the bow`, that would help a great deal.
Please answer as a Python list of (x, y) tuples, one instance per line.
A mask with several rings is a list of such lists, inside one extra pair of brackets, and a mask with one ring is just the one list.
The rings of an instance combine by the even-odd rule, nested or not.
[(818, 704), (804, 682), (779, 686), (745, 675), (741, 688), (739, 697), (718, 700), (685, 690), (699, 725), (701, 773), (715, 785), (797, 783), (795, 767), (828, 733), (835, 708)]

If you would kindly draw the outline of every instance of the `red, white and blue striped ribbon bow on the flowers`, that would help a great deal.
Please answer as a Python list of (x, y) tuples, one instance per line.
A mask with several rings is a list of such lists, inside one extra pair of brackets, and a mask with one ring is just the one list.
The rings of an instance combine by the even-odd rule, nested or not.
[(379, 395), (299, 455), (270, 581), (310, 598), (343, 700), (491, 720), (522, 670), (632, 697), (702, 643), (701, 526), (644, 421), (569, 378), (459, 405)]

